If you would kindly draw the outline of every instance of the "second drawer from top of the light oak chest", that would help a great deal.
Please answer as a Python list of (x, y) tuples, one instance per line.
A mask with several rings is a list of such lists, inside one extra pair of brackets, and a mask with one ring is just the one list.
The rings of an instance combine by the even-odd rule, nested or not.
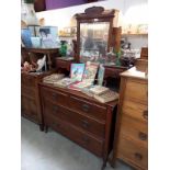
[(129, 100), (123, 101), (122, 112), (136, 120), (148, 122), (148, 106)]

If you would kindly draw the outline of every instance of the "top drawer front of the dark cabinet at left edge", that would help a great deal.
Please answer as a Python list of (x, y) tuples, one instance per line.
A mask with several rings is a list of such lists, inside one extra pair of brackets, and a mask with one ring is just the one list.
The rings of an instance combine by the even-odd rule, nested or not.
[(26, 87), (35, 87), (36, 86), (36, 78), (29, 75), (21, 75), (21, 83)]

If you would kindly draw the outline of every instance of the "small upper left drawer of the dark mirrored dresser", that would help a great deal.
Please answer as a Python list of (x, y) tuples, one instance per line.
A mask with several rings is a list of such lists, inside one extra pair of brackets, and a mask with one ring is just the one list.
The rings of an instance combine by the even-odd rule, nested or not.
[(43, 99), (49, 100), (53, 103), (67, 105), (68, 95), (66, 93), (46, 89), (46, 88), (42, 88), (42, 95), (43, 95)]

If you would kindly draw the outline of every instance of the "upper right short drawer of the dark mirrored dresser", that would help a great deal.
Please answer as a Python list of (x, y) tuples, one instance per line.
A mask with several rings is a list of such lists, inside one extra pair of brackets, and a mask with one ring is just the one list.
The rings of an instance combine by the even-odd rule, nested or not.
[(92, 116), (100, 121), (105, 121), (106, 107), (87, 102), (86, 100), (70, 97), (69, 105), (76, 112), (81, 112), (84, 115)]

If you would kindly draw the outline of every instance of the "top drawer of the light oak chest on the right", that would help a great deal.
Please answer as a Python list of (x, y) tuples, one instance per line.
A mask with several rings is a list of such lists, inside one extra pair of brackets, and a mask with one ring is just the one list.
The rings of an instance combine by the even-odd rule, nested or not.
[(147, 104), (147, 88), (148, 86), (144, 81), (138, 82), (127, 79), (124, 99)]

